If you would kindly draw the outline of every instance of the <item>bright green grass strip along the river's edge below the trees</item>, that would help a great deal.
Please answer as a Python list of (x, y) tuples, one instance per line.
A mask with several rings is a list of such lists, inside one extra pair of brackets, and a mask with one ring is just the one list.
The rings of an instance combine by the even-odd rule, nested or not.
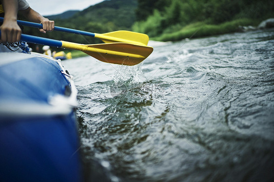
[(241, 18), (218, 25), (196, 22), (189, 24), (180, 30), (164, 32), (160, 36), (151, 37), (157, 41), (178, 41), (190, 37), (214, 36), (239, 31), (239, 26), (256, 26), (259, 21), (249, 18)]

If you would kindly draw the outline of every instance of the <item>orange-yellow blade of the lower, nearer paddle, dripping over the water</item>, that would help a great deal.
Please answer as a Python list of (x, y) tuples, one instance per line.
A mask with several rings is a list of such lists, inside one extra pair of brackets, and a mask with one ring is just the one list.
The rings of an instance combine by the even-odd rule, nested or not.
[(61, 42), (63, 48), (82, 51), (102, 62), (127, 66), (139, 64), (153, 52), (152, 47), (129, 43), (84, 45), (66, 41)]

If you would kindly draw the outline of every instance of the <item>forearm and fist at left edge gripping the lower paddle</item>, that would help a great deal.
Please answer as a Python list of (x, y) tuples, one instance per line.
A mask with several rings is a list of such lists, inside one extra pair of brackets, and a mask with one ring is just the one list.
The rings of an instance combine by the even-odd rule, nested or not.
[(2, 0), (5, 17), (0, 26), (0, 42), (17, 42), (20, 40), (21, 29), (17, 24), (18, 3), (17, 0)]

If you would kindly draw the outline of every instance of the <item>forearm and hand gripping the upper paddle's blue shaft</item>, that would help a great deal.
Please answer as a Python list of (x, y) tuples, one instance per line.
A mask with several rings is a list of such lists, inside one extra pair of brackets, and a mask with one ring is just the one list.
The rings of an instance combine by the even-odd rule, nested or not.
[(43, 24), (43, 29), (39, 29), (40, 32), (46, 33), (46, 31), (54, 30), (54, 21), (44, 18), (38, 12), (31, 9), (31, 7), (28, 7), (25, 10), (20, 10), (20, 13), (30, 21)]

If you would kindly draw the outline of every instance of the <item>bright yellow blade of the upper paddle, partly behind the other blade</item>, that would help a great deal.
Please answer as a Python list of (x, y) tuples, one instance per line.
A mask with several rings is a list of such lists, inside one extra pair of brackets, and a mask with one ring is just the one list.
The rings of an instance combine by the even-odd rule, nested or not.
[(96, 34), (95, 37), (100, 38), (105, 43), (125, 42), (138, 45), (147, 45), (149, 37), (146, 34), (119, 30), (105, 34)]

